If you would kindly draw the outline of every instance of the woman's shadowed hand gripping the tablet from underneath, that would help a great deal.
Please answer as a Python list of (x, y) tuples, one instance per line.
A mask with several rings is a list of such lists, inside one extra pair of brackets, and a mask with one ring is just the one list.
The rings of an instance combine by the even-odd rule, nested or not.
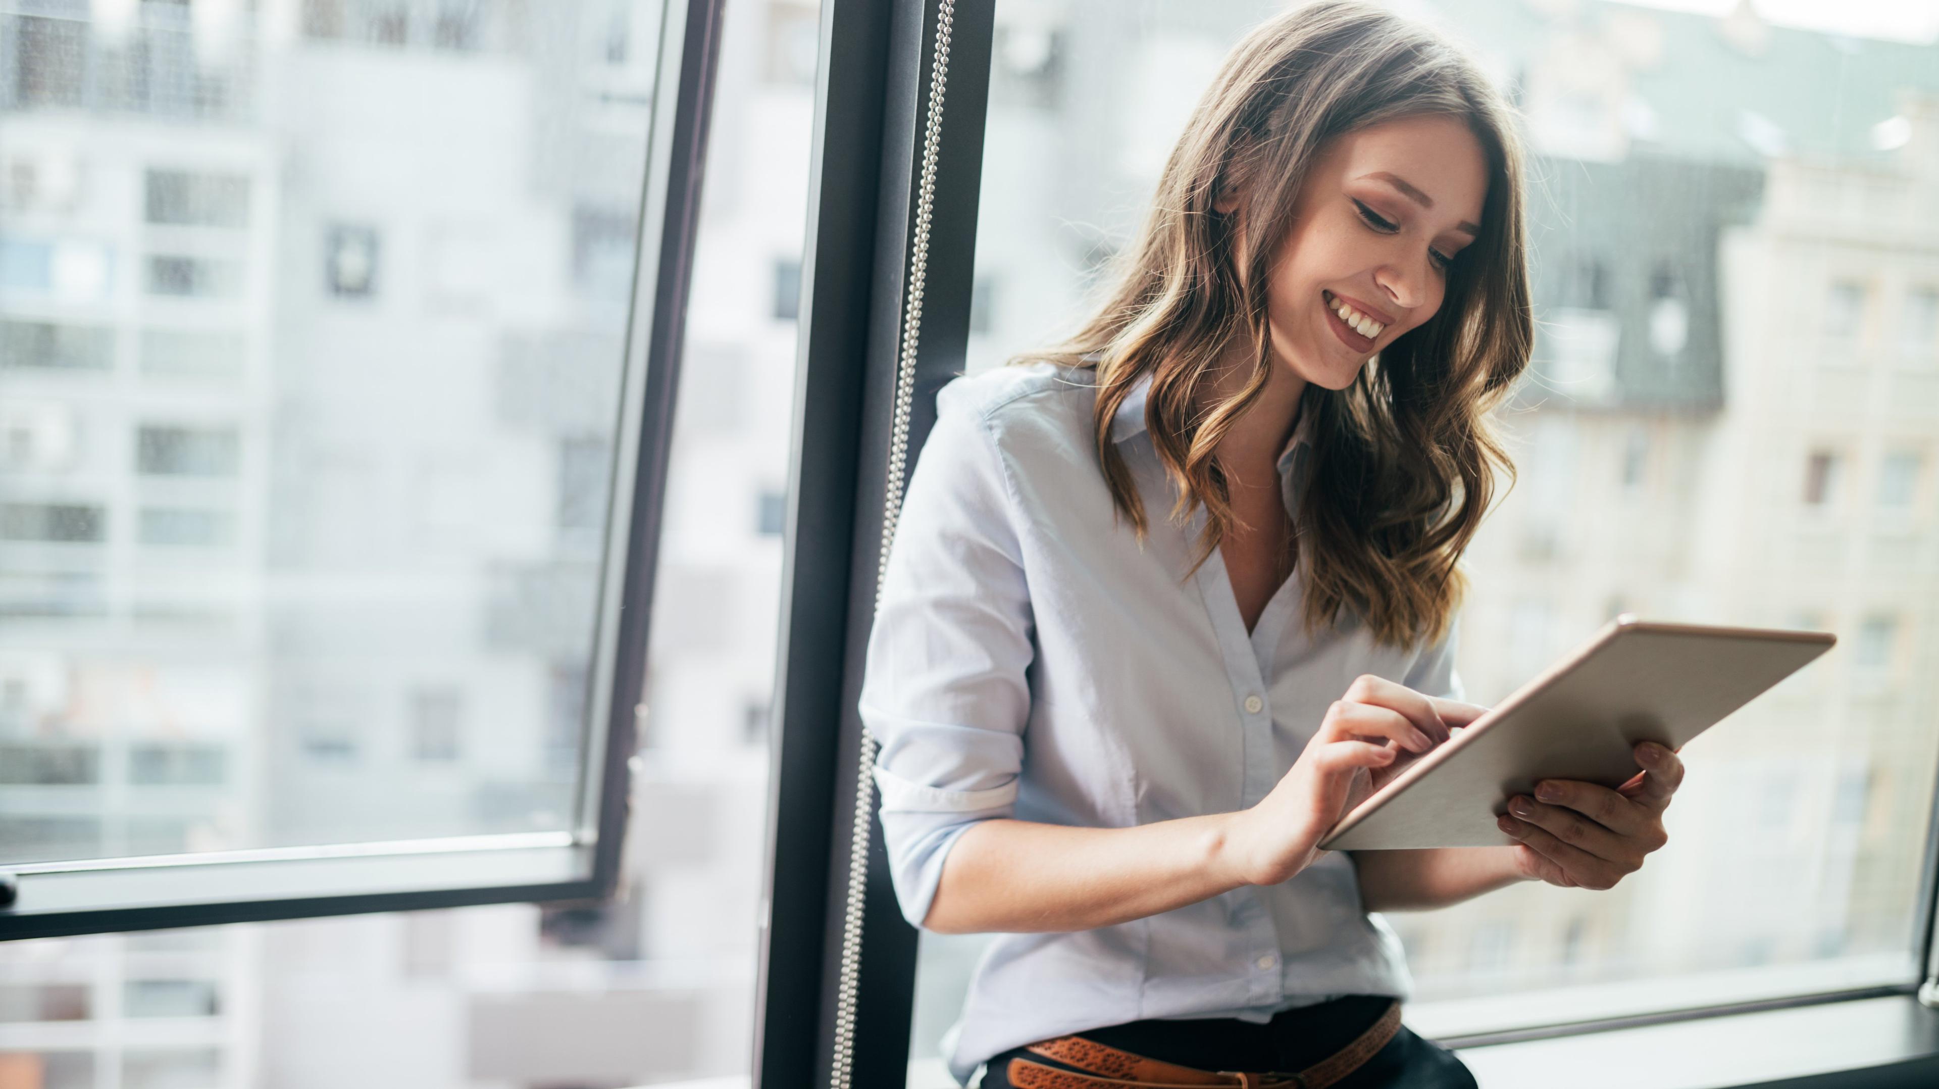
[(1637, 745), (1642, 771), (1609, 790), (1594, 782), (1545, 778), (1536, 796), (1509, 798), (1497, 819), (1516, 841), (1514, 862), (1524, 877), (1565, 889), (1609, 889), (1642, 868), (1664, 846), (1664, 809), (1683, 784), (1683, 761), (1664, 745)]

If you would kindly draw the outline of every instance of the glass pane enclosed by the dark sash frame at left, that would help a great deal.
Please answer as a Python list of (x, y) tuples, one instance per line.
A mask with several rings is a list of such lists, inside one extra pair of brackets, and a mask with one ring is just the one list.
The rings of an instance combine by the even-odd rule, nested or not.
[(0, 864), (578, 827), (657, 35), (0, 14)]

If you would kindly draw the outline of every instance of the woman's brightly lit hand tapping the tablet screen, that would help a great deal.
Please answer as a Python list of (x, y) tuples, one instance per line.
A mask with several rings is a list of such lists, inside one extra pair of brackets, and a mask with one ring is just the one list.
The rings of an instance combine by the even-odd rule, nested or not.
[(1319, 856), (1340, 817), (1485, 707), (1363, 676), (1326, 710), (1291, 771), (1258, 806), (1231, 813), (1224, 852), (1249, 885), (1278, 885)]

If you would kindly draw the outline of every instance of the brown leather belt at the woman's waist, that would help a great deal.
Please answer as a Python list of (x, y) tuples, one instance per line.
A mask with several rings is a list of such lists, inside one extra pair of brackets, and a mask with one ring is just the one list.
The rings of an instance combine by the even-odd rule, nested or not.
[(1030, 1052), (1057, 1060), (1072, 1070), (1057, 1070), (1028, 1058), (1012, 1058), (1006, 1072), (1016, 1089), (1202, 1089), (1206, 1085), (1235, 1085), (1239, 1089), (1324, 1089), (1359, 1070), (1394, 1033), (1400, 1031), (1400, 1004), (1361, 1033), (1353, 1042), (1301, 1070), (1299, 1073), (1237, 1073), (1229, 1070), (1196, 1070), (1158, 1062), (1142, 1054), (1107, 1048), (1084, 1037), (1057, 1037), (1030, 1044)]

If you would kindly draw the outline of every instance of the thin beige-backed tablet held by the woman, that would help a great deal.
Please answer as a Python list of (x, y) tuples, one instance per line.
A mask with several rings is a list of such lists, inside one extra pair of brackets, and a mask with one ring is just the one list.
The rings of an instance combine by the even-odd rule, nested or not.
[(1326, 850), (1516, 842), (1495, 817), (1543, 778), (1615, 788), (1635, 745), (1671, 749), (1830, 648), (1825, 631), (1704, 627), (1623, 613), (1353, 808)]

